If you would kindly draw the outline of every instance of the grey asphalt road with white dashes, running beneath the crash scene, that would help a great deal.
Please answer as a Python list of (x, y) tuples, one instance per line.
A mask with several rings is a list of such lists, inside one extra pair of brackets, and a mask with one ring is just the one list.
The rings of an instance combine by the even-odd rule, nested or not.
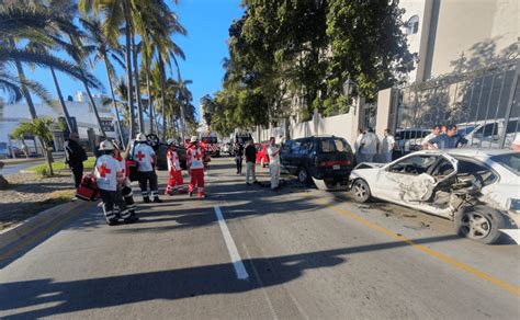
[(519, 319), (518, 245), (344, 193), (247, 186), (231, 161), (213, 159), (203, 201), (136, 197), (140, 221), (116, 227), (94, 208), (9, 262), (0, 317)]

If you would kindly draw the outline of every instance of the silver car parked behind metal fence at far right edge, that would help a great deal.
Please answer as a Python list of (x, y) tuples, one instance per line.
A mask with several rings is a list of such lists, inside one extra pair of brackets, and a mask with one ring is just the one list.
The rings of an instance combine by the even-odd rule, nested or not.
[(506, 146), (510, 146), (515, 136), (520, 135), (518, 117), (510, 118), (507, 125), (504, 118), (497, 118), (462, 123), (456, 127), (459, 135), (467, 140), (467, 147), (473, 148), (498, 148), (504, 134), (506, 134)]

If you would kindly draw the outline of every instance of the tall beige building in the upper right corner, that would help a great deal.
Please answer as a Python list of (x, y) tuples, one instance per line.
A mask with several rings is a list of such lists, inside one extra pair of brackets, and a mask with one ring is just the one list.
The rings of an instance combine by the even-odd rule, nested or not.
[(410, 82), (454, 71), (453, 62), (461, 55), (467, 61), (466, 67), (478, 69), (518, 54), (519, 3), (518, 0), (400, 0), (409, 50), (419, 58), (416, 70), (409, 75)]

